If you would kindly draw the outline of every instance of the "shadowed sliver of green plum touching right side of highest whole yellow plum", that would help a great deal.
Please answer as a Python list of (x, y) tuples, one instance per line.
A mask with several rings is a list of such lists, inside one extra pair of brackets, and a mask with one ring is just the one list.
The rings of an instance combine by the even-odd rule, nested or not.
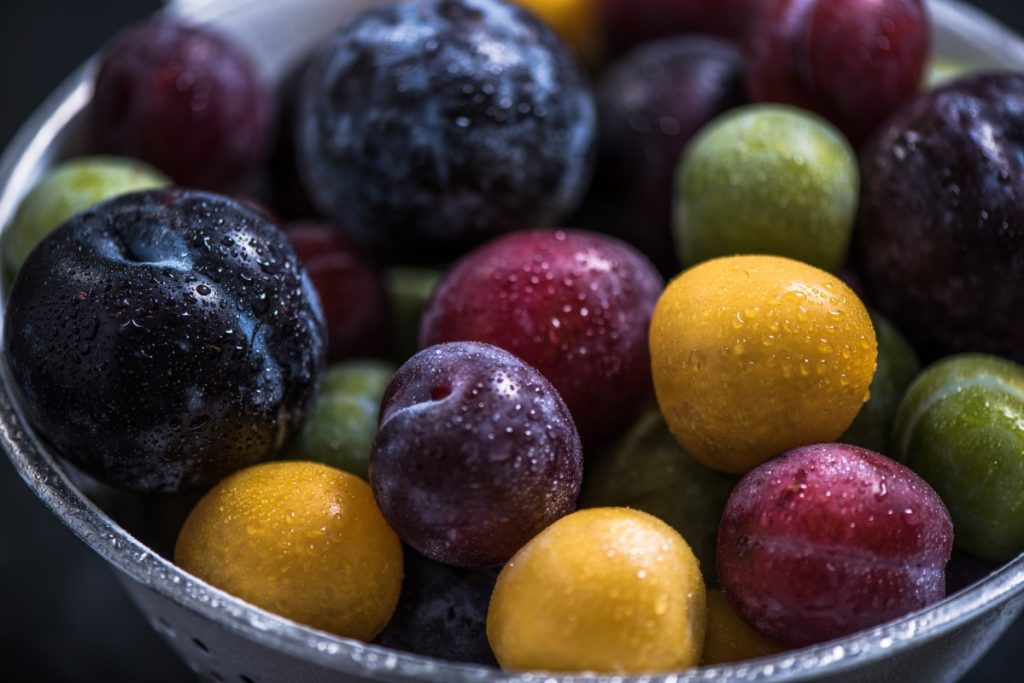
[(876, 311), (870, 314), (879, 338), (879, 367), (871, 380), (871, 397), (839, 440), (888, 454), (899, 401), (921, 372), (921, 361), (910, 342), (892, 323)]

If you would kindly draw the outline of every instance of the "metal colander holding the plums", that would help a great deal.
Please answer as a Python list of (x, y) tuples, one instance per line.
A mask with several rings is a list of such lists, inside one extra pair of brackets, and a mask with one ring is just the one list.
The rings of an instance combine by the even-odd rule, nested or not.
[[(322, 38), (373, 4), (372, 0), (182, 0), (171, 11), (231, 34), (258, 55), (267, 78), (278, 80)], [(939, 54), (981, 68), (1024, 71), (1020, 38), (958, 2), (933, 0), (930, 5)], [(47, 167), (82, 152), (79, 133), (93, 70), (89, 62), (61, 85), (25, 124), (0, 161), (0, 225), (10, 222), (18, 201)], [(6, 367), (0, 367), (0, 443), (36, 495), (116, 569), (171, 647), (198, 674), (216, 681), (936, 683), (963, 675), (1024, 608), (1022, 556), (928, 609), (777, 656), (657, 676), (509, 674), (337, 638), (253, 607), (188, 575), (127, 532), (74, 483), (80, 479), (29, 428)]]

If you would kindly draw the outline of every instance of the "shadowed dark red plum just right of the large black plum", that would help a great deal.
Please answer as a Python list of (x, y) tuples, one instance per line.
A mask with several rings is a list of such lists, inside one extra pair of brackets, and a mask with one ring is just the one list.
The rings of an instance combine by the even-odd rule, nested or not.
[(381, 272), (332, 225), (292, 223), (285, 233), (319, 294), (328, 360), (386, 355), (391, 311)]

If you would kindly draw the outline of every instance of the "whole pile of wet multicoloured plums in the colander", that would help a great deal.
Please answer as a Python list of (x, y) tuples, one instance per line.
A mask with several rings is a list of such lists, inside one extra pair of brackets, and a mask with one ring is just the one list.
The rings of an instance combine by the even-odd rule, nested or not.
[(25, 415), (196, 492), (194, 575), (421, 654), (663, 672), (924, 608), (1024, 552), (1024, 75), (929, 90), (929, 35), (921, 0), (381, 3), (275, 102), (210, 29), (133, 27), (96, 156), (3, 232)]

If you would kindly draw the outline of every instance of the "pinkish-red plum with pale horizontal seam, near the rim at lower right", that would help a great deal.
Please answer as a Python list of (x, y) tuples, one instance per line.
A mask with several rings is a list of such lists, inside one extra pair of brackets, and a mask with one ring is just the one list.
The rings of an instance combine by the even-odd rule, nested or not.
[(938, 494), (903, 465), (854, 445), (804, 446), (736, 486), (719, 579), (760, 633), (810, 645), (941, 600), (952, 532)]

